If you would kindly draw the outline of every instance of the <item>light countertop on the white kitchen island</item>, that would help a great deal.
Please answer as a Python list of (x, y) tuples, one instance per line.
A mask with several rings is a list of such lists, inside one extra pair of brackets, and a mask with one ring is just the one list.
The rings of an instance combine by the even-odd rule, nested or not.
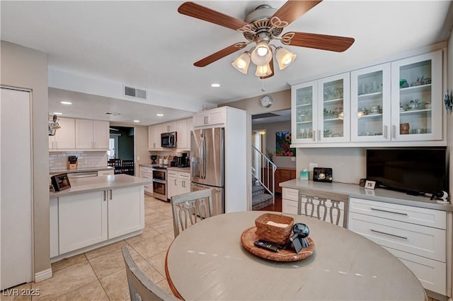
[(71, 187), (69, 189), (65, 189), (63, 191), (50, 191), (50, 198), (52, 199), (58, 196), (80, 194), (103, 189), (139, 186), (150, 183), (151, 181), (141, 177), (133, 177), (122, 174), (77, 178), (70, 180)]

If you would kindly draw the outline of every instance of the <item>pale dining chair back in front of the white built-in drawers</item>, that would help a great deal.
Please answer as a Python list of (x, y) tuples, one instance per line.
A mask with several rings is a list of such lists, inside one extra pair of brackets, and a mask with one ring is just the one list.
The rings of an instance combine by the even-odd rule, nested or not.
[(349, 196), (345, 194), (299, 189), (297, 214), (347, 228), (348, 203)]

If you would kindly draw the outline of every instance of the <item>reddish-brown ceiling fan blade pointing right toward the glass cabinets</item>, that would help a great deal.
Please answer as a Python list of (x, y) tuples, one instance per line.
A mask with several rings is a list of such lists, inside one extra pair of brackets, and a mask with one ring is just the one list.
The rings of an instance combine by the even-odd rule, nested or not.
[(282, 35), (282, 40), (280, 41), (285, 45), (344, 52), (355, 40), (352, 37), (338, 37), (336, 35), (289, 32)]

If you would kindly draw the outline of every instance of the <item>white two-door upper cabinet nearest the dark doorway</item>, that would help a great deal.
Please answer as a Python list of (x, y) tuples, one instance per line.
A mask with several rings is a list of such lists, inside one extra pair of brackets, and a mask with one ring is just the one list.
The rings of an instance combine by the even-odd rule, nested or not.
[(98, 120), (76, 119), (76, 148), (108, 150), (109, 124)]

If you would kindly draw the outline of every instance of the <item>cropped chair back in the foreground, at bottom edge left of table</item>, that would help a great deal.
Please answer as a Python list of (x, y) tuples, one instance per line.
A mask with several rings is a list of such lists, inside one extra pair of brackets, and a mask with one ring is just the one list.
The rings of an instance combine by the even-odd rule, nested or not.
[(122, 257), (125, 259), (127, 284), (131, 301), (144, 300), (179, 300), (178, 298), (166, 293), (153, 283), (135, 264), (126, 246), (121, 248)]

